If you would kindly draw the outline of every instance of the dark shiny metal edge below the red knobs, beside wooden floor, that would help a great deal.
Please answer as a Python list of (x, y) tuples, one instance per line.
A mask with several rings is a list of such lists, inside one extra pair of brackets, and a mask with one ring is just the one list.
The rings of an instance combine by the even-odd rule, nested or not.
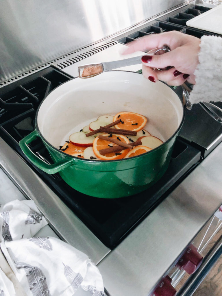
[(196, 289), (199, 287), (207, 273), (213, 267), (215, 262), (222, 255), (222, 236), (215, 243), (214, 247), (210, 250), (210, 252), (205, 256), (201, 266), (198, 270), (188, 279), (184, 287), (180, 289), (177, 296), (187, 296), (193, 295)]

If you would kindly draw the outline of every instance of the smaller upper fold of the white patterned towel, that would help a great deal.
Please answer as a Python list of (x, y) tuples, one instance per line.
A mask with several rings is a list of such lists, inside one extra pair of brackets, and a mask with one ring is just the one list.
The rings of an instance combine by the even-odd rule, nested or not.
[(32, 200), (13, 200), (0, 207), (0, 235), (6, 241), (33, 237), (46, 224)]

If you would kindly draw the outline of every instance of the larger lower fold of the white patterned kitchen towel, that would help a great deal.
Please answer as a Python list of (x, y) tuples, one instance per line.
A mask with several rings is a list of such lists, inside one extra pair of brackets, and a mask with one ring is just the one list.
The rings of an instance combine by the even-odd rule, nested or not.
[(2, 241), (0, 247), (29, 296), (73, 296), (79, 286), (90, 295), (104, 296), (102, 276), (94, 263), (57, 238)]

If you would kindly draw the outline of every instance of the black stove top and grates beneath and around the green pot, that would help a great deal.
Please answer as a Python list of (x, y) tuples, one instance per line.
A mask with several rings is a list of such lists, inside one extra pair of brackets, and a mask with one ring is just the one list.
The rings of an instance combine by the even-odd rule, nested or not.
[[(181, 19), (187, 12), (196, 13), (193, 12), (192, 7), (187, 9), (186, 12), (181, 12), (183, 14), (174, 12), (172, 17), (170, 16), (172, 21), (175, 18)], [(165, 20), (156, 20), (149, 27), (142, 26), (141, 30), (133, 30), (128, 34), (129, 36), (119, 38), (119, 42), (128, 41), (128, 38), (131, 40), (133, 36), (135, 38), (135, 36), (146, 33), (148, 30), (155, 33), (161, 32), (161, 28), (174, 30), (173, 26), (173, 24), (165, 22)], [(188, 30), (182, 27), (181, 24), (176, 26), (178, 30)], [(194, 31), (197, 35), (203, 35), (200, 31)], [(192, 124), (195, 124), (192, 121), (193, 118), (196, 117), (197, 112), (202, 114), (203, 111), (200, 106), (197, 106), (194, 108), (195, 110), (185, 112), (182, 131), (184, 131), (186, 137), (183, 134), (177, 137), (168, 170), (155, 185), (130, 197), (119, 199), (91, 197), (71, 188), (59, 174), (48, 175), (36, 168), (26, 159), (19, 146), (19, 141), (35, 129), (36, 110), (44, 97), (55, 87), (72, 78), (54, 67), (48, 67), (0, 88), (0, 136), (21, 155), (24, 161), (36, 171), (83, 223), (107, 247), (113, 249), (205, 156), (205, 147), (198, 144), (192, 137), (189, 137)], [(181, 95), (180, 88), (178, 88), (178, 95)], [(206, 117), (204, 112), (203, 114)], [(199, 132), (204, 133), (207, 130), (207, 125), (208, 122), (203, 121), (202, 129)], [(220, 132), (221, 125), (218, 124), (217, 128), (218, 132)], [(31, 149), (38, 157), (47, 163), (52, 163), (52, 159), (40, 138), (31, 143)]]

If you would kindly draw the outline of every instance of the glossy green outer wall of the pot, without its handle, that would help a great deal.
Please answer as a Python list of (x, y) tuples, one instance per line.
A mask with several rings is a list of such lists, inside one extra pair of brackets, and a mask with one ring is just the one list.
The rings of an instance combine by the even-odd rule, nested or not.
[[(124, 161), (83, 164), (81, 159), (76, 159), (72, 166), (59, 173), (67, 184), (84, 194), (102, 198), (133, 195), (149, 188), (163, 176), (174, 141), (175, 137), (156, 150)], [(54, 161), (61, 160), (60, 154), (47, 144), (46, 147)]]

